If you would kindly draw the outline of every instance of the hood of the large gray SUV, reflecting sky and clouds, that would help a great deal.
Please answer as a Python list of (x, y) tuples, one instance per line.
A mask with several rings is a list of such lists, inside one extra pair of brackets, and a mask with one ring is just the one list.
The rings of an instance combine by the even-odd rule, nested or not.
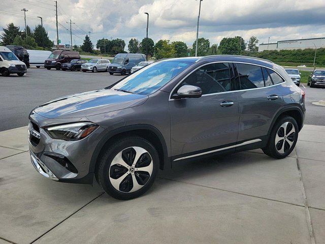
[(49, 101), (34, 109), (47, 118), (77, 118), (139, 106), (147, 101), (145, 95), (111, 89), (93, 90)]

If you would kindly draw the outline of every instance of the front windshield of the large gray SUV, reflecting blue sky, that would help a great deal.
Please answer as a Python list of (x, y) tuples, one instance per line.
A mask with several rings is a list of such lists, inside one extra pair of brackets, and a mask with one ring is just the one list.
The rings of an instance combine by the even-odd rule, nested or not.
[(111, 89), (140, 95), (150, 95), (191, 64), (177, 60), (161, 60), (127, 76), (111, 87)]

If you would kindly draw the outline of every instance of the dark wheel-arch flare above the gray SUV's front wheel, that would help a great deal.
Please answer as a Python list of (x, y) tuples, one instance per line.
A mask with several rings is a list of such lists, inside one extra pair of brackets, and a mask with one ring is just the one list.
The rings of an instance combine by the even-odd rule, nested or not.
[(96, 167), (96, 163), (97, 163), (97, 159), (103, 149), (103, 147), (105, 146), (106, 142), (111, 139), (113, 136), (116, 136), (120, 133), (123, 132), (132, 132), (135, 130), (150, 130), (151, 132), (153, 132), (157, 138), (159, 139), (161, 145), (163, 146), (163, 154), (164, 154), (164, 159), (163, 162), (160, 162), (159, 168), (163, 169), (164, 165), (168, 164), (168, 150), (167, 150), (167, 145), (166, 145), (166, 141), (163, 137), (163, 135), (161, 134), (161, 132), (155, 128), (154, 126), (151, 125), (147, 125), (147, 124), (139, 124), (139, 125), (131, 125), (131, 126), (124, 126), (124, 127), (120, 127), (118, 129), (115, 129), (113, 131), (109, 131), (107, 132), (103, 138), (99, 141), (99, 143), (96, 145), (92, 156), (91, 156), (91, 160), (90, 160), (90, 164), (89, 164), (89, 173), (94, 173), (95, 172), (95, 167)]

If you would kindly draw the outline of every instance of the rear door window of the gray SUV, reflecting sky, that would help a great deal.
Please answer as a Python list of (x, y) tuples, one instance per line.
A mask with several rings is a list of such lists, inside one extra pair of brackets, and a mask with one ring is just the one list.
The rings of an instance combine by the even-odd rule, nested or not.
[(256, 65), (237, 64), (241, 89), (264, 87), (262, 69)]

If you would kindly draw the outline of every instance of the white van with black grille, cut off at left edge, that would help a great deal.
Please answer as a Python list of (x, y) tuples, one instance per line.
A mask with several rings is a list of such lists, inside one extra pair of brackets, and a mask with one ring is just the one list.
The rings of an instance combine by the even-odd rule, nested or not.
[(25, 63), (21, 62), (9, 48), (0, 46), (0, 73), (2, 76), (10, 74), (23, 76), (26, 72)]

